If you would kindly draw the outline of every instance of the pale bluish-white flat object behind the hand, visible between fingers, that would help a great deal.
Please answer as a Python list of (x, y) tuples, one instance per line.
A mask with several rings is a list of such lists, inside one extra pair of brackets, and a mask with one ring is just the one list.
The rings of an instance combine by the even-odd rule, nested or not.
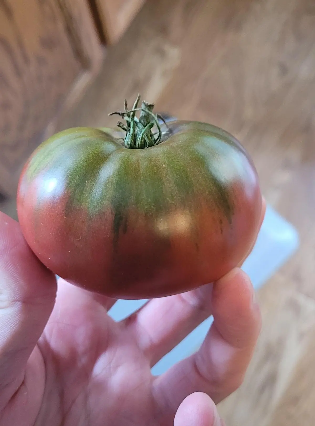
[[(242, 269), (249, 275), (255, 289), (258, 289), (297, 250), (298, 234), (295, 228), (267, 206), (266, 216), (252, 253)], [(142, 306), (146, 300), (118, 300), (109, 314), (119, 321)], [(179, 360), (189, 356), (202, 343), (212, 323), (208, 318), (172, 351), (152, 368), (153, 374), (161, 374)]]

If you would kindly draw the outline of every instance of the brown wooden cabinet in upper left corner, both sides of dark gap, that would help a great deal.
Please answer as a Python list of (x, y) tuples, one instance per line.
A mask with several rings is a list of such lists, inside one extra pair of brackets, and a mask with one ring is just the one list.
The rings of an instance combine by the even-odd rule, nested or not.
[(15, 197), (30, 153), (100, 70), (100, 26), (113, 43), (142, 3), (0, 1), (0, 199)]

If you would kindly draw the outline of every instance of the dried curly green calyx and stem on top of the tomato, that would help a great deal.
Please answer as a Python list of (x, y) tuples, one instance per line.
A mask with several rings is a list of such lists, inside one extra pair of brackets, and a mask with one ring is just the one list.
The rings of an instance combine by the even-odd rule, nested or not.
[[(117, 126), (126, 132), (124, 145), (126, 148), (143, 149), (153, 147), (162, 142), (162, 131), (159, 125), (158, 115), (153, 113), (154, 105), (143, 101), (141, 108), (138, 108), (140, 95), (138, 95), (132, 109), (128, 109), (125, 99), (125, 111), (112, 112), (109, 115), (120, 115), (126, 124), (118, 121)], [(136, 112), (140, 111), (139, 118)], [(162, 118), (163, 120), (163, 118)], [(153, 132), (153, 128), (157, 128), (157, 132)]]

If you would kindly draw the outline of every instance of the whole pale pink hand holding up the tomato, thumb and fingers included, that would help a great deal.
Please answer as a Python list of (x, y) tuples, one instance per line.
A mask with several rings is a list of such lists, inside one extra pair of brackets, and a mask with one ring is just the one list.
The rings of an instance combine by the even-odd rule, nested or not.
[[(107, 315), (114, 303), (57, 282), (0, 212), (0, 426), (223, 425), (215, 404), (240, 386), (261, 328), (246, 274), (152, 299), (120, 322)], [(210, 315), (200, 349), (153, 377)]]

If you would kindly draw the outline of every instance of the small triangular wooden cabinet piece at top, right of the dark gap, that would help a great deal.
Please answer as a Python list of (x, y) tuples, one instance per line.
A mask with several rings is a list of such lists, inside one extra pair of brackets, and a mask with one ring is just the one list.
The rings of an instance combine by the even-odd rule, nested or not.
[(115, 43), (145, 0), (94, 0), (106, 42)]

